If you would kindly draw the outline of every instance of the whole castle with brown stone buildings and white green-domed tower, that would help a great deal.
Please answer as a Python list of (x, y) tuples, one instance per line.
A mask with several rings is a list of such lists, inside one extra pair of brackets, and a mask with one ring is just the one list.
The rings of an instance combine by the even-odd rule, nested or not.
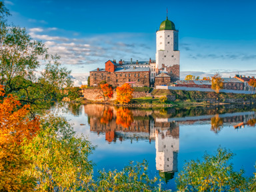
[(179, 80), (179, 31), (168, 17), (156, 33), (156, 60), (127, 62), (108, 60), (105, 68), (90, 71), (89, 86), (105, 81), (112, 86), (129, 83), (131, 86), (169, 85)]

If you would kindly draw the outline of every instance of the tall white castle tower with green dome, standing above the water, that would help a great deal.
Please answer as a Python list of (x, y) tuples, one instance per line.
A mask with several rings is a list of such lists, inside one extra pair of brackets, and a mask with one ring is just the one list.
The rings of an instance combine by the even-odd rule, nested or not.
[(168, 17), (157, 31), (156, 68), (167, 72), (173, 80), (179, 80), (179, 31)]

